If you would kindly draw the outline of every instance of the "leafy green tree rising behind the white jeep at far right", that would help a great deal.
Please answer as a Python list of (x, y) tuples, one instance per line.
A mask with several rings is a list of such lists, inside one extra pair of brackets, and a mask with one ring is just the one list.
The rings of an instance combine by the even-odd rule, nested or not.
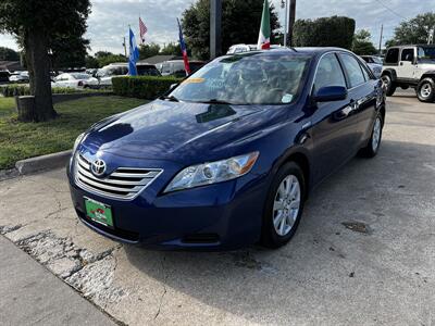
[(400, 23), (395, 29), (387, 47), (427, 43), (431, 29), (435, 28), (435, 12), (420, 14), (410, 21)]

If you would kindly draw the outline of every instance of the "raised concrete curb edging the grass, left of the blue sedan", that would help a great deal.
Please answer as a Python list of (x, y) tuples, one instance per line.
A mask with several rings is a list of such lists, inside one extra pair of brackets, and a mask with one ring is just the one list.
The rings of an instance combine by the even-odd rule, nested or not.
[(15, 168), (20, 175), (26, 175), (38, 171), (51, 170), (65, 166), (71, 158), (71, 150), (22, 160), (15, 163)]

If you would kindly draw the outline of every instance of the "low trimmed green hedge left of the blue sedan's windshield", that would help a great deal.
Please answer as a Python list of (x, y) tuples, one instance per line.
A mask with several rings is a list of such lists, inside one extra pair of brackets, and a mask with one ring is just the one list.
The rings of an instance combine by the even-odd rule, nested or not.
[(167, 91), (182, 78), (156, 76), (127, 76), (112, 78), (113, 93), (122, 97), (153, 100)]

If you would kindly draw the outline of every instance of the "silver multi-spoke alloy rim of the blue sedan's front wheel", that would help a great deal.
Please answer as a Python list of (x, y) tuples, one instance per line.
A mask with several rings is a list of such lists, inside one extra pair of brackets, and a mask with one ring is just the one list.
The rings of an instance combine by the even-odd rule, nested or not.
[(273, 225), (278, 236), (289, 234), (300, 210), (301, 190), (295, 175), (285, 177), (276, 190), (273, 203)]

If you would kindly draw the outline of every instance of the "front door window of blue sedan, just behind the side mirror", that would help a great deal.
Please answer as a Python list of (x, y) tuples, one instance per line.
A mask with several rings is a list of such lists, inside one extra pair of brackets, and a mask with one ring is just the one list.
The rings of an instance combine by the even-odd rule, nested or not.
[(319, 63), (315, 74), (314, 87), (321, 89), (326, 86), (346, 87), (346, 79), (337, 57), (333, 53), (326, 54)]

